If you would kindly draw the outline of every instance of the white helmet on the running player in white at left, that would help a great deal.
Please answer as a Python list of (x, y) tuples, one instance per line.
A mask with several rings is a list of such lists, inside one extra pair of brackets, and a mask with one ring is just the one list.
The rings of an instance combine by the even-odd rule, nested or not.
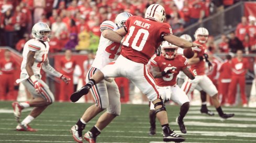
[(32, 28), (32, 36), (44, 42), (50, 41), (51, 29), (46, 23), (38, 22)]

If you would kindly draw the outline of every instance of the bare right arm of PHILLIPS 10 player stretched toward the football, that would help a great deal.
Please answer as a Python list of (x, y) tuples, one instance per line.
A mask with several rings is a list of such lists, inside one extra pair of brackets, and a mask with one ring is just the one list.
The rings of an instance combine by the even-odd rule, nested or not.
[(184, 40), (183, 38), (177, 37), (172, 34), (165, 35), (163, 38), (164, 38), (164, 40), (168, 41), (169, 43), (176, 45), (178, 47), (181, 47), (181, 48), (191, 48), (191, 47), (195, 47), (195, 46), (202, 46), (197, 43), (188, 42), (188, 41)]

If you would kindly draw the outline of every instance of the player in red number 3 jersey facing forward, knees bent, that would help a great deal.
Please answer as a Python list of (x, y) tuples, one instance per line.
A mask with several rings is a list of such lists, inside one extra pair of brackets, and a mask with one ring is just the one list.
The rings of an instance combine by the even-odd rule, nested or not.
[[(185, 75), (193, 80), (196, 76), (196, 70), (191, 72), (187, 68), (187, 60), (184, 56), (177, 54), (177, 46), (164, 41), (161, 48), (161, 56), (154, 55), (150, 60), (152, 75), (163, 101), (172, 100), (181, 105), (180, 115), (176, 122), (179, 124), (181, 132), (186, 134), (183, 118), (190, 108), (190, 100), (185, 92), (177, 86), (176, 77), (180, 71), (183, 71)], [(150, 103), (149, 122), (151, 125), (149, 135), (155, 135), (155, 109), (152, 102)]]

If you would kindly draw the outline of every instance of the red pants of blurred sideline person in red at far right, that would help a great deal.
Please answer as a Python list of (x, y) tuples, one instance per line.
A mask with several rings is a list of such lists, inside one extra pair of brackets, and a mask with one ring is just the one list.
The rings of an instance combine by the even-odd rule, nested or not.
[(246, 76), (232, 76), (231, 83), (229, 85), (229, 92), (228, 92), (228, 103), (233, 104), (235, 103), (235, 97), (237, 94), (237, 84), (240, 87), (240, 94), (242, 98), (242, 103), (247, 104), (247, 97), (246, 97)]

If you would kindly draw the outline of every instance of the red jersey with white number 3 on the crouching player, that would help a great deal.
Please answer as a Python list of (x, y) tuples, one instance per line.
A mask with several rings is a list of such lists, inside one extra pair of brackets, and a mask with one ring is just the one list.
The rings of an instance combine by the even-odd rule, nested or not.
[(176, 84), (177, 74), (187, 67), (187, 60), (181, 55), (178, 55), (171, 60), (164, 58), (162, 55), (154, 55), (150, 60), (150, 64), (154, 67), (159, 67), (161, 72), (176, 68), (175, 71), (177, 73), (171, 73), (160, 78), (155, 78), (158, 86), (173, 86)]

